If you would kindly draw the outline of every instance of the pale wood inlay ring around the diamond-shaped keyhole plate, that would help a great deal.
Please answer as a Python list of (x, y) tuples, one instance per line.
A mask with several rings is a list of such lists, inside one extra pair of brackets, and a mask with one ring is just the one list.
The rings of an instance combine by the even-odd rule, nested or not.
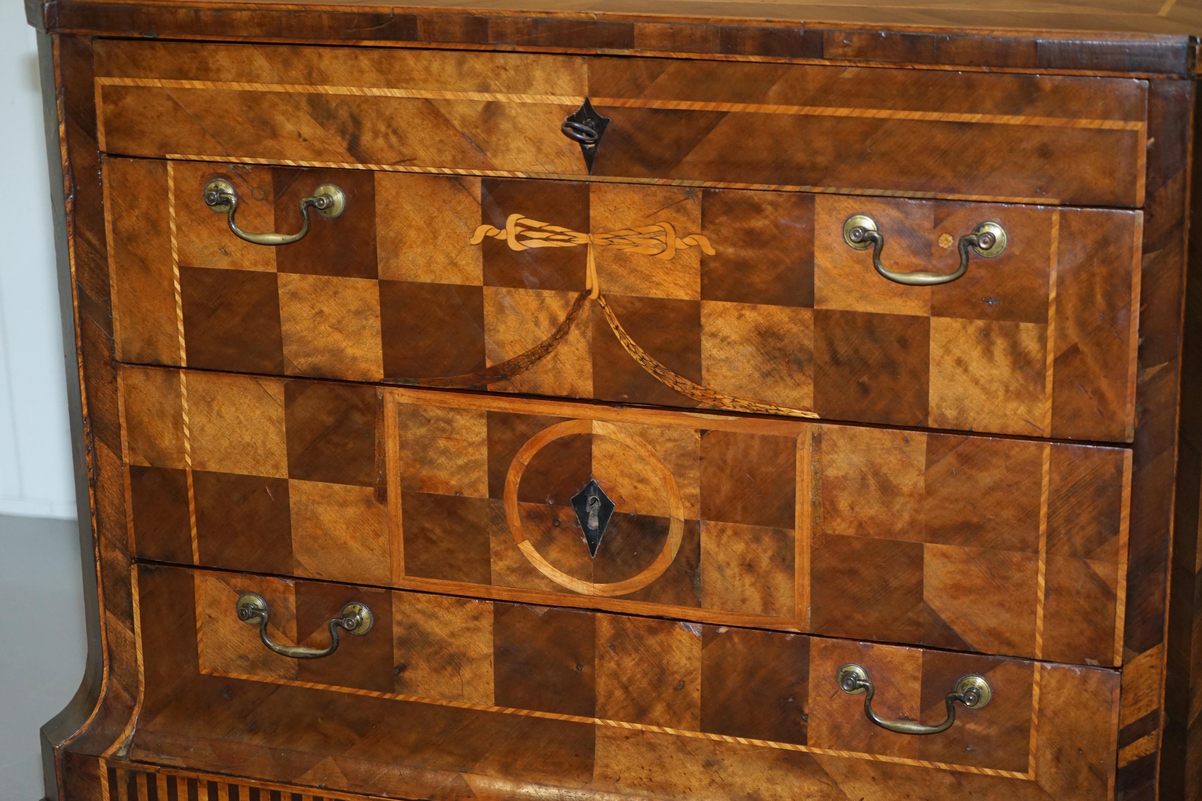
[[(522, 482), (522, 474), (525, 472), (526, 465), (547, 444), (555, 440), (572, 436), (573, 434), (591, 434), (600, 437), (608, 437), (626, 446), (651, 465), (660, 482), (662, 482), (664, 489), (667, 491), (670, 524), (664, 548), (660, 549), (654, 562), (629, 579), (607, 584), (594, 584), (567, 575), (535, 550), (534, 544), (526, 539), (525, 531), (522, 528), (522, 513), (518, 510), (518, 484)], [(668, 566), (672, 564), (677, 552), (680, 550), (680, 540), (684, 537), (684, 502), (680, 500), (680, 489), (677, 486), (672, 471), (645, 441), (612, 423), (603, 423), (601, 420), (565, 420), (564, 423), (557, 423), (534, 435), (522, 446), (522, 449), (513, 456), (513, 461), (510, 462), (508, 473), (505, 476), (505, 519), (508, 521), (510, 531), (513, 533), (513, 542), (517, 543), (518, 550), (522, 551), (540, 573), (559, 586), (583, 596), (625, 596), (642, 590), (664, 575), (664, 570), (668, 569)]]

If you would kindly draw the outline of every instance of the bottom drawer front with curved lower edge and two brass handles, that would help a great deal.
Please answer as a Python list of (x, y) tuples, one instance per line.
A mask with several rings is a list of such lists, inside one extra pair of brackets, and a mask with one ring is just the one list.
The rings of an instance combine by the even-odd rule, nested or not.
[[(138, 761), (435, 799), (464, 781), (543, 799), (841, 799), (869, 784), (874, 799), (1096, 799), (1113, 781), (1115, 671), (174, 567), (136, 580)], [(264, 634), (239, 620), (245, 593), (267, 609)], [(347, 603), (373, 627), (343, 630), (329, 656), (261, 640), (328, 650)], [(888, 721), (942, 723), (965, 675), (992, 700), (954, 704), (940, 734), (895, 734), (840, 691), (845, 664)]]

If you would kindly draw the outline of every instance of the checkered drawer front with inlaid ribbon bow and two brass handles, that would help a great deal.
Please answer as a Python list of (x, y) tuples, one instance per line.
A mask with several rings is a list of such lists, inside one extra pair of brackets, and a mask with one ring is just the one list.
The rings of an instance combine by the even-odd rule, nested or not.
[[(124, 361), (1129, 441), (1142, 213), (228, 163), (107, 165)], [(293, 231), (337, 184), (345, 214)], [(166, 198), (166, 202), (163, 199)], [(993, 221), (1006, 249), (952, 273)], [(968, 247), (968, 245), (965, 245)]]

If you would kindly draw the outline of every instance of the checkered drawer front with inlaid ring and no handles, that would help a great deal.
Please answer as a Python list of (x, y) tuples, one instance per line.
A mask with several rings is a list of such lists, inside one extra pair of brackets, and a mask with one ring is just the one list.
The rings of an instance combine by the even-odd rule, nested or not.
[(1130, 452), (123, 367), (144, 558), (1118, 664)]

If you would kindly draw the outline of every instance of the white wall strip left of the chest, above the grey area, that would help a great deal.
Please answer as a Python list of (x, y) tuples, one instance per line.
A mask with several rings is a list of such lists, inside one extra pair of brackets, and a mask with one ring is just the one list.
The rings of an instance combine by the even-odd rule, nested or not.
[(41, 103), (34, 29), (0, 4), (0, 514), (73, 518)]

